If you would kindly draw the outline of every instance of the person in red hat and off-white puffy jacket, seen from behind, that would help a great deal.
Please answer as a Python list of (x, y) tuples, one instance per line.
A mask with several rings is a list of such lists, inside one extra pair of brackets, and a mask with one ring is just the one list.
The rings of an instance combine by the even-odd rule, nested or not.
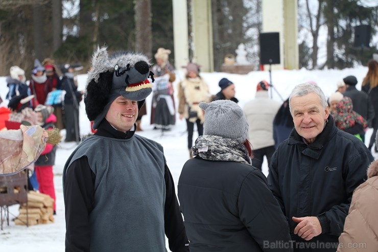
[(252, 166), (261, 170), (264, 156), (268, 165), (275, 147), (273, 139), (273, 120), (281, 106), (268, 96), (269, 83), (265, 80), (257, 83), (255, 99), (247, 102), (243, 111), (249, 124), (248, 140), (252, 144)]

